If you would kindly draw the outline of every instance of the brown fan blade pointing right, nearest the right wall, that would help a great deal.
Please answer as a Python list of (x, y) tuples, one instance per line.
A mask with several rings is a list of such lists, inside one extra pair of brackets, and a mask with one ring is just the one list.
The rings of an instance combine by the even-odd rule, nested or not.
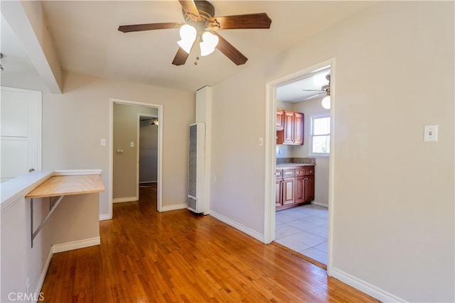
[(267, 13), (247, 13), (245, 15), (221, 16), (208, 19), (208, 27), (220, 30), (242, 28), (270, 28), (272, 19)]

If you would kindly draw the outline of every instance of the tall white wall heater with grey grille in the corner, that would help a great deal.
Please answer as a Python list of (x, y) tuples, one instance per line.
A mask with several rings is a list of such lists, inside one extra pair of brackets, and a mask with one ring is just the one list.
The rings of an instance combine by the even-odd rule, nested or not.
[(205, 123), (190, 125), (188, 146), (188, 209), (208, 214), (205, 209)]

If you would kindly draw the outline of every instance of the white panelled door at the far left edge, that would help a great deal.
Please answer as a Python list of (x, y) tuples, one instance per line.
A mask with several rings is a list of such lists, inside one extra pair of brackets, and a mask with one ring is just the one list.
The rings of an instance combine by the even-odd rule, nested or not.
[(0, 179), (41, 170), (41, 92), (0, 87)]

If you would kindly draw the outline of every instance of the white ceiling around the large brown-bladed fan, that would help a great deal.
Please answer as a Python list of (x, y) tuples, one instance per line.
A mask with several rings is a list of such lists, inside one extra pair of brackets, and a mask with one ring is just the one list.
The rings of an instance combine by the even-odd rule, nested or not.
[[(201, 57), (194, 65), (171, 62), (178, 49), (177, 29), (122, 33), (118, 26), (137, 23), (182, 22), (181, 6), (167, 1), (43, 1), (48, 29), (63, 70), (100, 77), (125, 79), (176, 89), (196, 90), (214, 85), (249, 65), (267, 60), (291, 45), (314, 35), (373, 1), (210, 1), (215, 16), (265, 12), (270, 29), (218, 31), (248, 57), (237, 66), (220, 51)], [(1, 60), (6, 72), (26, 58), (11, 50), (14, 35), (1, 20)], [(13, 41), (13, 42), (11, 42)], [(20, 49), (20, 45), (18, 45)], [(18, 55), (19, 54), (19, 55)], [(22, 50), (22, 54), (25, 54)], [(18, 55), (18, 57), (15, 57)], [(26, 57), (26, 56), (24, 56)]]

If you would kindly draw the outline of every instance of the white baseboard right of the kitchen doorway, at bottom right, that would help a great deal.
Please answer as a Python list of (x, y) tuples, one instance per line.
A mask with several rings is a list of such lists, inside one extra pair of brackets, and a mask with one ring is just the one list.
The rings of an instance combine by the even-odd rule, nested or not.
[(365, 292), (365, 294), (369, 294), (371, 297), (374, 297), (381, 302), (407, 302), (405, 299), (395, 296), (395, 294), (381, 290), (379, 287), (371, 285), (370, 283), (360, 280), (358, 277), (349, 275), (348, 273), (338, 270), (337, 268), (331, 269), (331, 275), (341, 282), (344, 282), (361, 292)]

